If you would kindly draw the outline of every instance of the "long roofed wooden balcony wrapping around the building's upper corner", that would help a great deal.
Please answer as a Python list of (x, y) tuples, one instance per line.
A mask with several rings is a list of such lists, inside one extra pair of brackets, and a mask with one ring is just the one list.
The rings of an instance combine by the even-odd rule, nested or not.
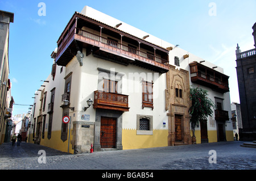
[(86, 48), (86, 55), (118, 64), (134, 64), (158, 73), (169, 69), (169, 51), (76, 12), (57, 41), (56, 64), (66, 66)]

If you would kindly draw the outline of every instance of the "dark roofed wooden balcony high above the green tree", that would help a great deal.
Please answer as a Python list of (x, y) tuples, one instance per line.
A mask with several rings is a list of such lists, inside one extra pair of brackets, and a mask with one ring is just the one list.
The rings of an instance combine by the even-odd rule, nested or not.
[(229, 92), (229, 77), (198, 62), (189, 64), (191, 82), (210, 87), (214, 91)]

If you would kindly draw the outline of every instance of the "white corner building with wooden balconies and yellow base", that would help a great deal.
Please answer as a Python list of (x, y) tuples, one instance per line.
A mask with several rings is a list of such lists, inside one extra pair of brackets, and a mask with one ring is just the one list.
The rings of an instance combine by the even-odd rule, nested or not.
[[(57, 40), (35, 92), (30, 142), (81, 153), (191, 144), (189, 87), (218, 105), (197, 143), (233, 141), (222, 68), (88, 6)], [(89, 106), (92, 103), (92, 106)], [(203, 130), (203, 131), (201, 131)]]

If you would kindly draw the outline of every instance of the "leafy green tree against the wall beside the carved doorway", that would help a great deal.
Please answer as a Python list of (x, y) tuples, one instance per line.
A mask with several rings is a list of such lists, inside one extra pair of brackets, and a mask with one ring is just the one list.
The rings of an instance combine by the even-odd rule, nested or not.
[(201, 89), (200, 87), (190, 88), (189, 98), (192, 102), (192, 106), (189, 108), (189, 114), (191, 115), (190, 122), (193, 132), (192, 142), (194, 143), (196, 140), (196, 124), (198, 124), (200, 120), (205, 120), (208, 116), (212, 116), (212, 108), (215, 109), (216, 107), (214, 102), (210, 98), (208, 98), (207, 92), (207, 90)]

